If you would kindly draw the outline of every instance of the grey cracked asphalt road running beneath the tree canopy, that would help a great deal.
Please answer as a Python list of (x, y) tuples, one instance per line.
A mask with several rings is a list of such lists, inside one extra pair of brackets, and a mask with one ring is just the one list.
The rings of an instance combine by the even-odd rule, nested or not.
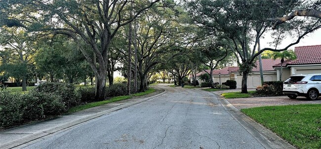
[(265, 149), (213, 93), (161, 88), (168, 92), (25, 149)]

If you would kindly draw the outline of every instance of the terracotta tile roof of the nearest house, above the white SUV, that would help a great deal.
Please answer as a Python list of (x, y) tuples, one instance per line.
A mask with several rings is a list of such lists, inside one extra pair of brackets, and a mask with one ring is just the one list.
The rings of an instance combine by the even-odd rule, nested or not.
[[(287, 60), (283, 66), (300, 64), (321, 64), (321, 45), (301, 46), (294, 48), (296, 60)], [(281, 63), (274, 67), (281, 67)]]

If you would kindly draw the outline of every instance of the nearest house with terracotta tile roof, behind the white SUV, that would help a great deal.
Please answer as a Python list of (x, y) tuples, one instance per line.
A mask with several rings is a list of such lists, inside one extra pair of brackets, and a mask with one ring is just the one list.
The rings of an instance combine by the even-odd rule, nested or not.
[[(321, 45), (295, 47), (294, 52), (296, 60), (286, 60), (282, 64), (282, 81), (295, 74), (321, 73)], [(281, 63), (273, 68), (280, 80)]]

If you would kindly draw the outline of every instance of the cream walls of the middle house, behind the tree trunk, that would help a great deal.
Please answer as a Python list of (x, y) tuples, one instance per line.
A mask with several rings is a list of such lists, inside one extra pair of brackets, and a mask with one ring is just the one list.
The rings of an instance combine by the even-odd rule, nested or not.
[[(242, 75), (236, 74), (237, 88), (242, 88)], [(264, 81), (277, 81), (277, 72), (263, 72)], [(254, 72), (247, 77), (247, 89), (256, 89), (257, 86), (261, 85), (260, 73)]]

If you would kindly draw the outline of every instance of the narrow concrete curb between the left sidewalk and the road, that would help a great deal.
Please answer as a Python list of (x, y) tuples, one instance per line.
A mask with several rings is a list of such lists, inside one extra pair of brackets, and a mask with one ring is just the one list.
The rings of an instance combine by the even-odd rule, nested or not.
[(37, 132), (37, 133), (35, 133), (35, 134), (31, 135), (31, 136), (28, 136), (28, 137), (24, 137), (24, 138), (21, 138), (21, 139), (18, 139), (18, 140), (14, 140), (14, 141), (11, 141), (11, 142), (8, 142), (8, 143), (5, 143), (5, 144), (1, 144), (0, 145), (0, 149), (12, 149), (12, 148), (21, 146), (21, 145), (26, 144), (28, 142), (34, 141), (36, 139), (39, 139), (41, 137), (45, 137), (47, 135), (53, 134), (55, 132), (58, 132), (58, 131), (61, 131), (61, 130), (64, 130), (64, 129), (70, 128), (72, 126), (78, 125), (78, 124), (86, 122), (88, 120), (96, 119), (96, 118), (101, 117), (103, 115), (106, 115), (108, 113), (111, 113), (111, 112), (114, 112), (114, 111), (117, 111), (117, 110), (120, 110), (120, 109), (123, 109), (123, 108), (127, 108), (127, 107), (129, 107), (131, 105), (138, 104), (138, 103), (144, 102), (146, 100), (150, 100), (150, 99), (156, 98), (156, 97), (161, 96), (161, 95), (163, 95), (165, 93), (167, 93), (167, 90), (164, 90), (163, 92), (161, 92), (161, 93), (159, 93), (157, 95), (151, 96), (151, 97), (147, 97), (147, 98), (144, 98), (144, 99), (141, 99), (141, 100), (138, 100), (138, 101), (134, 101), (134, 102), (131, 102), (131, 103), (126, 103), (126, 104), (120, 105), (118, 107), (114, 107), (114, 108), (111, 108), (111, 109), (96, 113), (94, 115), (91, 115), (91, 116), (88, 116), (88, 117), (85, 117), (85, 118), (82, 118), (82, 119), (78, 119), (78, 120), (75, 120), (75, 121), (71, 121), (69, 123), (65, 123), (65, 124), (62, 124), (62, 125), (59, 125), (59, 126), (56, 126), (56, 127), (52, 127), (52, 128), (46, 129), (45, 131)]

